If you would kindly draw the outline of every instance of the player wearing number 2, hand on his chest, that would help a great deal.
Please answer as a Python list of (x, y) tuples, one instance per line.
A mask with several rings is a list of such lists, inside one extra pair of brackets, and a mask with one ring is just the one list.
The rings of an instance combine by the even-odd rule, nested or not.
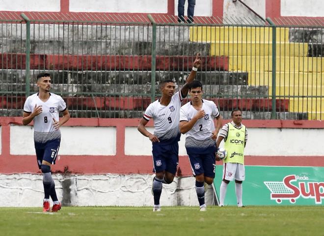
[(186, 149), (196, 178), (200, 211), (206, 211), (204, 182), (212, 184), (215, 178), (216, 137), (222, 118), (215, 103), (202, 99), (202, 94), (202, 84), (199, 81), (189, 84), (191, 101), (181, 107), (180, 131), (186, 134)]

